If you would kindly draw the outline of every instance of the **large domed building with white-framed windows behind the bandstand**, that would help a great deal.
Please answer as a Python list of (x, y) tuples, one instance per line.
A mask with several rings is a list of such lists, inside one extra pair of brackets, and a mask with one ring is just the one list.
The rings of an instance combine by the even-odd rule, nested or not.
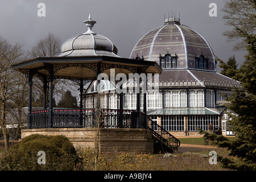
[[(146, 114), (158, 125), (174, 136), (198, 135), (197, 127), (232, 134), (224, 104), (240, 83), (217, 72), (213, 50), (205, 38), (181, 24), (179, 18), (167, 18), (163, 26), (143, 36), (130, 59), (156, 61), (162, 68), (159, 81), (151, 83), (157, 84), (158, 89), (147, 89), (146, 94)], [(114, 92), (115, 83), (105, 80), (100, 87), (92, 82), (87, 88), (86, 108), (94, 107), (98, 88), (113, 91), (101, 94), (102, 108), (136, 110), (136, 93), (118, 94)], [(144, 98), (140, 94), (141, 110)]]

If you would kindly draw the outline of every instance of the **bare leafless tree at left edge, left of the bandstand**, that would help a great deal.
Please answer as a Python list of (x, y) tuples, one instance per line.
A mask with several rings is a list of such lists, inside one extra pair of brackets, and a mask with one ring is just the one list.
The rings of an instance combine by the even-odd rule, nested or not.
[(22, 94), (21, 85), (24, 85), (26, 81), (25, 76), (14, 71), (11, 65), (25, 59), (26, 55), (22, 51), (21, 44), (16, 43), (13, 46), (0, 36), (0, 127), (5, 139), (6, 150), (9, 148), (6, 118), (8, 107), (16, 102), (17, 97)]

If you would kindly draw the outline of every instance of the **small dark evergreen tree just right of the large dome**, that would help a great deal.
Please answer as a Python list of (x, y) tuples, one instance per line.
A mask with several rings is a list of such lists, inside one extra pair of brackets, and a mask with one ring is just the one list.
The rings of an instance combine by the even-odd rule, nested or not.
[(219, 65), (219, 67), (223, 68), (221, 74), (230, 78), (234, 78), (235, 75), (237, 74), (237, 66), (238, 64), (237, 61), (235, 60), (235, 56), (229, 57), (227, 63), (221, 61), (221, 65)]

